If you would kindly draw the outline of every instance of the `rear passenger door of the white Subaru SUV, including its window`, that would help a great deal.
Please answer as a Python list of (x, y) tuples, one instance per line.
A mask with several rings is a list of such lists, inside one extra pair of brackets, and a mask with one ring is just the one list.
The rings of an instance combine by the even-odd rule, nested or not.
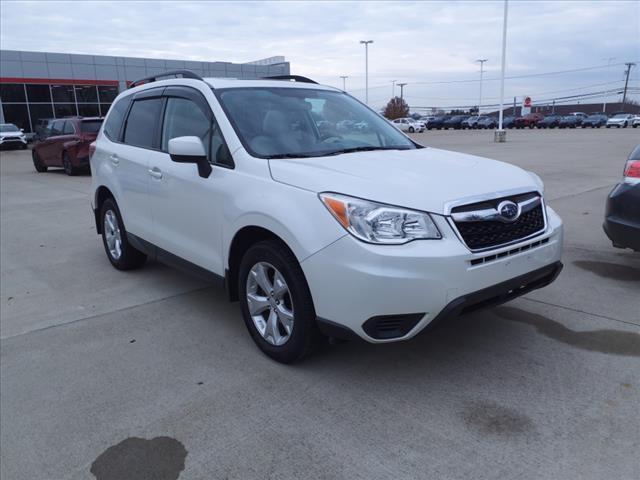
[(109, 152), (119, 189), (120, 213), (127, 231), (151, 241), (149, 155), (158, 150), (164, 88), (144, 90), (133, 97), (123, 126), (122, 141)]

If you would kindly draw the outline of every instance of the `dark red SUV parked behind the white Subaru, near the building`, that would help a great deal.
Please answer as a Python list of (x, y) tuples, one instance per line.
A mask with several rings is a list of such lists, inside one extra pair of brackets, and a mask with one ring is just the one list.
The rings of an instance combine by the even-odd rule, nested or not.
[(60, 118), (42, 132), (33, 145), (33, 166), (38, 172), (62, 167), (67, 175), (89, 169), (89, 145), (96, 139), (102, 118)]

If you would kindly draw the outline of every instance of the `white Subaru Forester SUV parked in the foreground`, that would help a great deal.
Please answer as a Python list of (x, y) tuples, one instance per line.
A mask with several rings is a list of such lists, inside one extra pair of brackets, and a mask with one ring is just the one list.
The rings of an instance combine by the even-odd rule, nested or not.
[(121, 93), (93, 144), (98, 233), (118, 269), (153, 258), (223, 284), (272, 358), (322, 334), (406, 340), (560, 272), (534, 173), (425, 148), (304, 77), (172, 75)]

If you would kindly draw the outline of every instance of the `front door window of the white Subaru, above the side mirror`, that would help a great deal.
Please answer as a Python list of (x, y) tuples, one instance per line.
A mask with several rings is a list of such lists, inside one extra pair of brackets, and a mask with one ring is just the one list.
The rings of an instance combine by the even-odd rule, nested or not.
[(209, 136), (213, 123), (200, 108), (186, 98), (167, 99), (162, 125), (162, 150), (168, 151), (169, 140), (176, 137), (196, 136), (202, 140), (207, 157), (211, 159)]

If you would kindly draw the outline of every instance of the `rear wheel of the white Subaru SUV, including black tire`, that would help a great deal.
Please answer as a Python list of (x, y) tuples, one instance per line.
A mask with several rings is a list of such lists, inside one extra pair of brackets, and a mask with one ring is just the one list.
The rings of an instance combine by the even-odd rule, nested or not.
[[(106, 220), (107, 216), (111, 222)], [(112, 225), (112, 228), (109, 228), (108, 224)], [(122, 222), (118, 205), (113, 198), (106, 199), (100, 208), (100, 225), (102, 226), (102, 244), (111, 265), (118, 270), (133, 270), (144, 265), (147, 256), (134, 248), (127, 240), (127, 231)], [(110, 234), (114, 237), (110, 237)], [(118, 242), (119, 255), (117, 254)], [(112, 247), (109, 246), (110, 244)]]

